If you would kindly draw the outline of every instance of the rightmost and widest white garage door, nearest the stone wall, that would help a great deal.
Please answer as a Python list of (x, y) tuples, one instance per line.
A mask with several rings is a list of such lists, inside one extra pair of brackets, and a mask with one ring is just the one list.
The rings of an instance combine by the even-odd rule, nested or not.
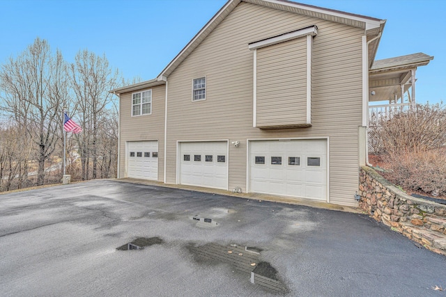
[(327, 141), (250, 141), (249, 191), (327, 201)]

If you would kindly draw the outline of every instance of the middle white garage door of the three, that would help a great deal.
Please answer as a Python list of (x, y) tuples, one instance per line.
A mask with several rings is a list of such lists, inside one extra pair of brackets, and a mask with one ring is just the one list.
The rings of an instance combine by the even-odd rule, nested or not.
[(180, 184), (228, 188), (228, 144), (226, 141), (179, 144)]

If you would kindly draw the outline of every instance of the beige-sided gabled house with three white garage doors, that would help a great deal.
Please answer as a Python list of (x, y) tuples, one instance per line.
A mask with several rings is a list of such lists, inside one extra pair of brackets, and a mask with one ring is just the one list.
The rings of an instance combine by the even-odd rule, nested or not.
[[(374, 67), (384, 25), (285, 0), (229, 0), (158, 77), (112, 90), (118, 177), (357, 206), (369, 84), (385, 98), (378, 88), (390, 83), (380, 81), (399, 69)], [(429, 58), (402, 67), (403, 81), (395, 72), (394, 86), (407, 91)]]

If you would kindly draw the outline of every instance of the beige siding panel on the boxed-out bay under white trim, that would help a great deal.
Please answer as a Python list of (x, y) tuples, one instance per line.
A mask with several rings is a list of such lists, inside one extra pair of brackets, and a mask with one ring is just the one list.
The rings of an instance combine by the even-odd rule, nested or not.
[(257, 49), (256, 127), (307, 124), (307, 38)]

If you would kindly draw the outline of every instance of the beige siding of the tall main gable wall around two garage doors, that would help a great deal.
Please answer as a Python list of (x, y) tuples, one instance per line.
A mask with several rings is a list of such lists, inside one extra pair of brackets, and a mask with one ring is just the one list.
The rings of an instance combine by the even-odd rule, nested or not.
[[(250, 42), (316, 25), (312, 127), (252, 127), (254, 54)], [(241, 2), (169, 77), (167, 182), (176, 183), (177, 141), (229, 145), (229, 190), (246, 191), (247, 139), (329, 138), (330, 202), (356, 205), (362, 125), (363, 29)], [(192, 79), (206, 76), (206, 100), (192, 102)]]

